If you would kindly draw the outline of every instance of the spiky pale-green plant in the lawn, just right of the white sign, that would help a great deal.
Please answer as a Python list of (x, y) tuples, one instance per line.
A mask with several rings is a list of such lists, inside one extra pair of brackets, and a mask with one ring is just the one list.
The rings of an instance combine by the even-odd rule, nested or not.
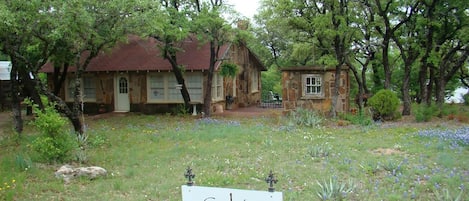
[(321, 200), (346, 200), (347, 194), (352, 193), (355, 189), (355, 183), (350, 180), (348, 183), (341, 182), (334, 176), (329, 181), (317, 181), (319, 190), (316, 195)]

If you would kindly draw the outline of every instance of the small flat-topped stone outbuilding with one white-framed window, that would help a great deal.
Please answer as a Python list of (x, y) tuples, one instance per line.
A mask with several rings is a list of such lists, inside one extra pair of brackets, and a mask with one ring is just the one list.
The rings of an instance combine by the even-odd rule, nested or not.
[[(297, 107), (321, 113), (330, 111), (334, 90), (335, 68), (320, 66), (288, 67), (282, 69), (282, 100), (285, 110)], [(350, 77), (348, 67), (340, 74), (337, 112), (349, 111)]]

